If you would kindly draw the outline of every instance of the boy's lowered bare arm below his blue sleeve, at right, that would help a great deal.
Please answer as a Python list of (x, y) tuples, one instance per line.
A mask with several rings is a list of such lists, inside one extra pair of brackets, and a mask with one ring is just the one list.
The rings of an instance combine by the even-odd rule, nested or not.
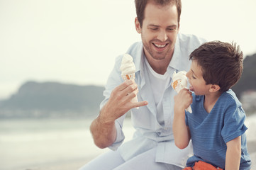
[(227, 142), (226, 170), (239, 170), (241, 159), (241, 136)]

